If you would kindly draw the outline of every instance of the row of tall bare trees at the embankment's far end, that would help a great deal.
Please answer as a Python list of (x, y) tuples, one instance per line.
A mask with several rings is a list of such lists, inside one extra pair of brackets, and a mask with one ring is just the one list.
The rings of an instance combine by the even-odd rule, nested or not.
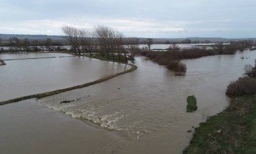
[[(64, 26), (61, 28), (71, 45), (71, 50), (79, 56), (92, 52), (100, 54), (102, 57), (126, 61), (134, 60), (135, 53), (139, 50), (139, 40), (135, 38), (125, 38), (123, 33), (100, 25), (94, 29), (77, 28)], [(124, 39), (125, 38), (125, 39)]]

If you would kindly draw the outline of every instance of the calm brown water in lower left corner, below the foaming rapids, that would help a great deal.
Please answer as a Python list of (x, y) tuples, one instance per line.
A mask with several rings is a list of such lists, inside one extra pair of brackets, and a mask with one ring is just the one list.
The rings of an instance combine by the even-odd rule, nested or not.
[(94, 129), (35, 102), (31, 99), (0, 107), (1, 154), (91, 153), (98, 149), (96, 143), (120, 140), (114, 133)]

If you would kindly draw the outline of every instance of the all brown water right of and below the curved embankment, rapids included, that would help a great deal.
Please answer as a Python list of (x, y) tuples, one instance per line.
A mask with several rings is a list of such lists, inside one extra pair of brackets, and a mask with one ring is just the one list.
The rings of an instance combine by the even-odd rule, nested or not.
[[(186, 76), (175, 76), (164, 66), (136, 58), (138, 68), (129, 74), (37, 101), (0, 106), (4, 126), (0, 130), (6, 132), (0, 137), (0, 146), (6, 145), (6, 153), (11, 149), (26, 153), (30, 143), (34, 151), (45, 147), (49, 153), (72, 149), (75, 153), (182, 153), (192, 137), (187, 131), (228, 106), (226, 86), (242, 76), (245, 64), (254, 64), (255, 59), (256, 53), (247, 51), (183, 60)], [(187, 96), (192, 94), (198, 109), (187, 113)], [(60, 103), (63, 100), (74, 101)], [(19, 118), (16, 121), (14, 117)]]

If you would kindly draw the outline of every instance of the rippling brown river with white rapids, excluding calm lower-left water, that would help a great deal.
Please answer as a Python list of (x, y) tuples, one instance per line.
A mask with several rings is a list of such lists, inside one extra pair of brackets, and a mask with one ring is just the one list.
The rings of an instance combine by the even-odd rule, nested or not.
[[(255, 59), (255, 52), (245, 52), (183, 60), (186, 76), (174, 76), (164, 66), (140, 57), (134, 72), (39, 102), (123, 137), (107, 145), (110, 148), (104, 153), (181, 153), (192, 137), (187, 131), (228, 106), (226, 86)], [(187, 96), (192, 94), (198, 110), (187, 113)], [(75, 101), (61, 104), (63, 100)]]

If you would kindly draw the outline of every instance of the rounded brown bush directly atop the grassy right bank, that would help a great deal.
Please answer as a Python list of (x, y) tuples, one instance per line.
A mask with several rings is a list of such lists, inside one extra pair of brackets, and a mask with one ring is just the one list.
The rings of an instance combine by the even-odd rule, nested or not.
[(253, 78), (239, 78), (235, 82), (230, 82), (226, 90), (230, 96), (243, 96), (256, 94), (256, 80)]

